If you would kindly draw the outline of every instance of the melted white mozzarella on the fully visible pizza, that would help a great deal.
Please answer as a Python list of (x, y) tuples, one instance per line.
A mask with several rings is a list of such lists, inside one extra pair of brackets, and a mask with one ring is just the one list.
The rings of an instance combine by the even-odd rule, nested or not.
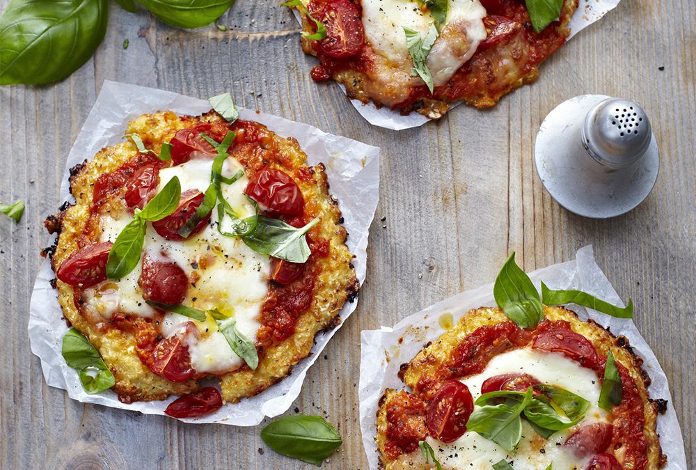
[[(223, 164), (223, 176), (231, 177), (243, 167), (236, 159), (229, 157)], [(210, 184), (212, 159), (193, 159), (184, 164), (159, 171), (161, 190), (175, 176), (179, 178), (182, 192), (198, 189), (205, 192)], [(240, 218), (255, 212), (244, 196), (248, 178), (242, 176), (232, 185), (222, 185), (223, 195)], [(123, 227), (132, 220), (130, 214), (109, 214), (102, 217), (101, 241), (115, 241)], [(213, 210), (211, 224), (198, 235), (187, 240), (170, 241), (160, 237), (151, 224), (148, 224), (143, 244), (143, 253), (154, 258), (175, 261), (189, 277), (189, 291), (183, 304), (208, 310), (219, 311), (235, 318), (237, 329), (247, 338), (254, 340), (260, 327), (259, 313), (268, 294), (270, 274), (269, 257), (248, 248), (239, 237), (226, 237), (217, 229), (217, 211)], [(230, 231), (226, 224), (223, 230)], [(119, 281), (108, 281), (87, 289), (84, 295), (86, 307), (99, 313), (104, 319), (121, 311), (141, 317), (151, 318), (155, 310), (145, 304), (143, 292), (138, 284), (142, 272), (142, 258), (136, 269)], [(190, 318), (168, 313), (161, 324), (165, 337), (183, 332)], [(198, 373), (221, 373), (241, 366), (243, 361), (237, 356), (226, 338), (217, 331), (216, 324), (194, 322), (199, 334), (186, 335), (191, 366)]]

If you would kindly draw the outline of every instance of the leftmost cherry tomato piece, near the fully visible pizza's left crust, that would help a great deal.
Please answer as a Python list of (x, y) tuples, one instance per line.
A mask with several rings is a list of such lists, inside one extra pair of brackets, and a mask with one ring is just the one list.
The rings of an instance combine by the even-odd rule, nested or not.
[(83, 288), (104, 281), (111, 246), (111, 242), (93, 243), (75, 251), (58, 267), (56, 277), (68, 285)]

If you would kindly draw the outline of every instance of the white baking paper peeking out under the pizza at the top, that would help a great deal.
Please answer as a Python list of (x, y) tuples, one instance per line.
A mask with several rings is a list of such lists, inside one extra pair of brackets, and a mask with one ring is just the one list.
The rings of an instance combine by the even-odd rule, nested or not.
[[(598, 19), (606, 15), (610, 10), (613, 10), (619, 4), (619, 0), (580, 0), (580, 5), (571, 17), (568, 27), (570, 28), (570, 36), (568, 40), (575, 36), (583, 29), (596, 22)], [(297, 10), (293, 10), (295, 18), (302, 24), (301, 17)], [(345, 86), (338, 85), (345, 93)], [(411, 129), (411, 127), (419, 127), (427, 123), (430, 119), (420, 113), (413, 111), (412, 113), (402, 116), (399, 111), (393, 111), (389, 107), (377, 108), (370, 101), (368, 104), (363, 104), (359, 100), (350, 100), (353, 107), (358, 110), (363, 118), (372, 125), (378, 125), (391, 130)], [(450, 109), (462, 104), (461, 101), (452, 103)]]

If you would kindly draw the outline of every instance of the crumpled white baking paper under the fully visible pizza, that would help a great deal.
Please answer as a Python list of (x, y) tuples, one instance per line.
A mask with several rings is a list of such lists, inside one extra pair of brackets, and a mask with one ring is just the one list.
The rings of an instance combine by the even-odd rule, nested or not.
[[(68, 162), (65, 165), (61, 201), (74, 201), (68, 191), (68, 169), (79, 164), (105, 146), (112, 146), (123, 139), (129, 120), (143, 113), (171, 110), (178, 114), (196, 115), (209, 111), (205, 100), (145, 88), (142, 86), (104, 81), (102, 91), (90, 111), (80, 134), (77, 136)], [(348, 230), (348, 248), (356, 255), (353, 264), (361, 284), (365, 280), (367, 260), (367, 230), (370, 228), (377, 207), (379, 187), (379, 148), (368, 146), (345, 137), (326, 134), (316, 127), (294, 123), (290, 120), (239, 109), (242, 119), (255, 120), (276, 134), (294, 137), (308, 155), (309, 164), (323, 162), (331, 185), (329, 192), (337, 196), (339, 207)], [(29, 308), (29, 339), (31, 350), (41, 359), (46, 382), (68, 391), (70, 398), (81, 402), (98, 403), (109, 407), (131, 409), (147, 414), (164, 414), (164, 409), (176, 397), (157, 402), (136, 402), (125, 405), (118, 401), (111, 390), (88, 395), (82, 389), (77, 372), (68, 367), (61, 355), (63, 334), (68, 331), (63, 312), (58, 305), (57, 292), (51, 285), (54, 272), (46, 260), (38, 273)], [(347, 302), (340, 313), (343, 321), (356, 308), (356, 301)], [(278, 416), (290, 408), (300, 393), (307, 369), (319, 357), (326, 343), (340, 325), (331, 331), (319, 333), (310, 356), (298, 363), (292, 374), (278, 384), (252, 398), (239, 403), (224, 405), (214, 414), (188, 418), (191, 423), (223, 423), (240, 426), (258, 425), (265, 416)]]

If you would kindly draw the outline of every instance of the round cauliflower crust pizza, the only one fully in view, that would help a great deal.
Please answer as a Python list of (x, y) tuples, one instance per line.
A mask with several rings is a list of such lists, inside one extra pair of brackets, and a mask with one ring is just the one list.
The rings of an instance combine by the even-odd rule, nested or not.
[[(228, 402), (260, 393), (358, 290), (324, 166), (308, 166), (295, 139), (216, 111), (145, 114), (127, 136), (72, 169), (76, 203), (47, 219), (65, 318), (101, 354), (122, 402), (194, 393), (200, 405), (212, 393), (216, 405), (189, 402), (177, 417), (214, 411), (219, 393), (199, 384), (211, 377)], [(174, 179), (173, 212), (147, 219)], [(199, 210), (212, 181), (219, 203)], [(110, 279), (114, 242), (138, 218), (137, 263)]]

